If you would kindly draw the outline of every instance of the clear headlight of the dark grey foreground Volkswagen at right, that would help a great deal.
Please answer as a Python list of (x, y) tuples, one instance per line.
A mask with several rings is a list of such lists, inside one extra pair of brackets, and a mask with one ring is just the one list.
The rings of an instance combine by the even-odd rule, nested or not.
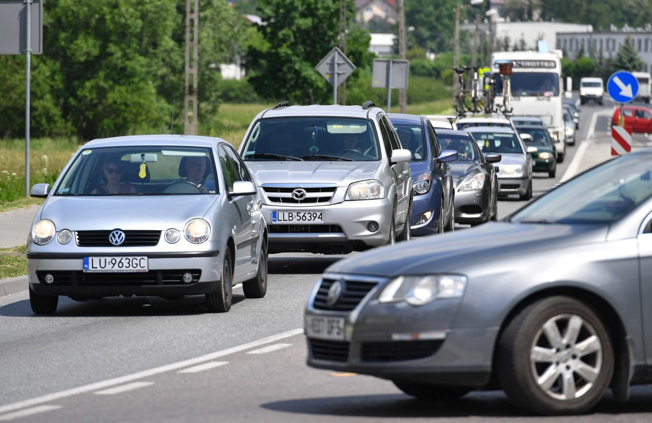
[(412, 306), (422, 306), (436, 299), (460, 298), (464, 294), (466, 282), (466, 276), (460, 274), (398, 276), (387, 284), (378, 301), (405, 301)]

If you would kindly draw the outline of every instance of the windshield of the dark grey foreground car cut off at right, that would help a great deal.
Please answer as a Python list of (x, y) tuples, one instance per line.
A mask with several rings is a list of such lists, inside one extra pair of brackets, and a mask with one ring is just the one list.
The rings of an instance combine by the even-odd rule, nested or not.
[(652, 162), (621, 156), (562, 184), (512, 216), (513, 222), (606, 224), (652, 196)]

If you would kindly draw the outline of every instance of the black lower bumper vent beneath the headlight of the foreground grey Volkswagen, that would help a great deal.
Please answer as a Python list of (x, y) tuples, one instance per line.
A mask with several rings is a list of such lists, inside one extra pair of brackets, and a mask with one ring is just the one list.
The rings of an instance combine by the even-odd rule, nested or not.
[(363, 342), (360, 358), (364, 361), (402, 361), (425, 358), (437, 352), (443, 341)]

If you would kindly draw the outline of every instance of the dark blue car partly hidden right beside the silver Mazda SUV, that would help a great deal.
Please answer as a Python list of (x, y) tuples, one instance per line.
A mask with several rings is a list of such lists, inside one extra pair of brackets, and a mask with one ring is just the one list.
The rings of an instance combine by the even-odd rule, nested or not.
[(412, 153), (409, 168), (414, 181), (411, 235), (452, 231), (455, 226), (454, 196), (449, 162), (457, 151), (443, 150), (432, 124), (425, 116), (389, 113), (404, 149)]

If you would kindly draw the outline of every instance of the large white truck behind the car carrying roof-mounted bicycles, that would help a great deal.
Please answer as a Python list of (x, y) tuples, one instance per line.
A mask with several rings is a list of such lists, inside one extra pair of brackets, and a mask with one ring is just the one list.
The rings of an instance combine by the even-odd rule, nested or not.
[(561, 78), (561, 52), (497, 51), (492, 54), (492, 73), (496, 80), (496, 104), (502, 104), (503, 81), (498, 73), (498, 63), (514, 63), (511, 75), (512, 114), (514, 116), (539, 116), (555, 141), (557, 162), (566, 154), (566, 131)]

